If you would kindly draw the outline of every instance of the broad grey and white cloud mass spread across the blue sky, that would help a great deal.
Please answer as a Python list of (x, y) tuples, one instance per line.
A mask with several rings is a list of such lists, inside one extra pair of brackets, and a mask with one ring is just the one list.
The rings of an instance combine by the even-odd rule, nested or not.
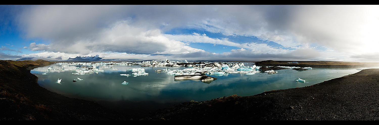
[[(325, 46), (348, 58), (370, 60), (360, 55), (379, 52), (378, 10), (374, 5), (36, 5), (25, 8), (17, 19), (26, 38), (49, 41), (31, 43), (31, 51), (322, 59), (310, 48)], [(178, 28), (257, 37), (308, 56), (263, 43), (234, 43), (196, 33), (162, 33)], [(192, 48), (188, 42), (235, 46), (246, 51), (212, 54)]]

